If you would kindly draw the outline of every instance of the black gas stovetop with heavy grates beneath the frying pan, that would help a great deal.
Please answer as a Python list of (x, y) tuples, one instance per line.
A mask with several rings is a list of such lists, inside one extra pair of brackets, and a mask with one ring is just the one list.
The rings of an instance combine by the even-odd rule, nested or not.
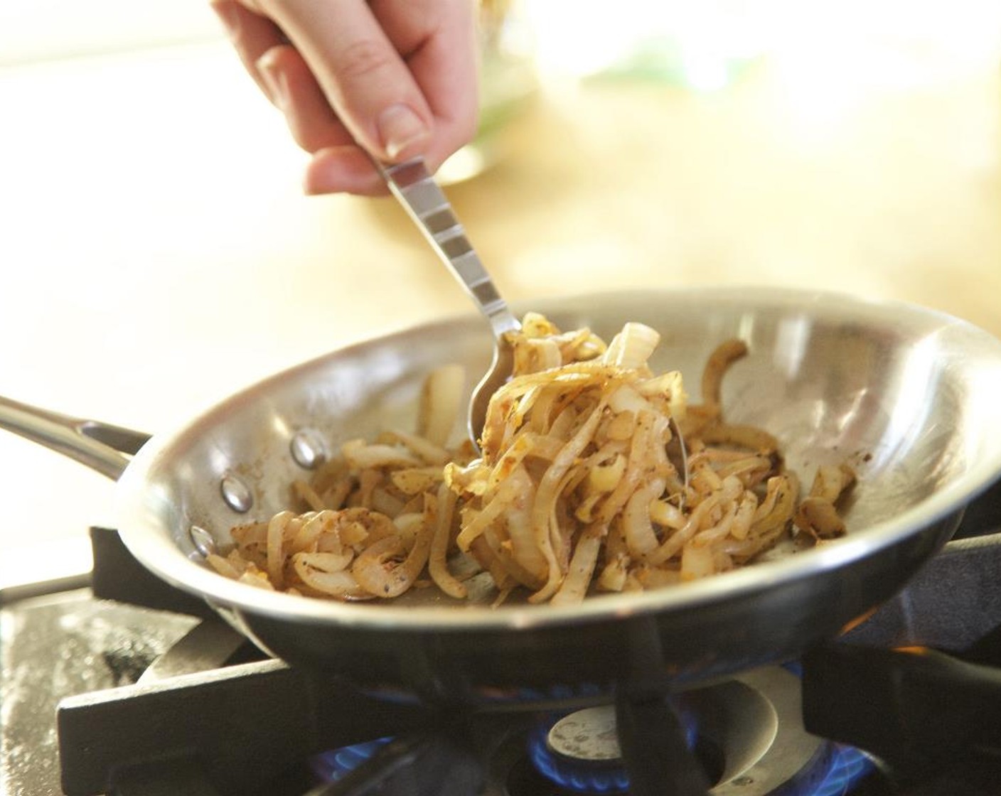
[[(982, 514), (991, 523), (1001, 517), (1001, 485)], [(773, 667), (686, 692), (686, 706), (691, 700), (698, 714), (688, 768), (704, 770), (711, 782), (691, 792), (702, 796), (711, 787), (713, 796), (996, 796), (1001, 742), (997, 723), (983, 720), (993, 715), (990, 692), (981, 699), (969, 682), (993, 683), (1001, 667), (997, 529), (996, 524), (971, 527), (898, 598), (832, 649), (812, 651), (802, 683), (794, 669)], [(422, 738), (444, 765), (402, 766), (393, 783), (401, 789), (379, 784), (364, 792), (581, 796), (554, 784), (529, 752), (532, 733), (542, 726), (545, 746), (563, 716), (530, 713), (525, 701), (516, 708), (502, 701), (472, 715), (429, 715), (420, 706), (380, 699), (336, 678), (262, 660), (214, 612), (145, 573), (113, 532), (95, 531), (93, 539), (90, 590), (59, 582), (0, 594), (0, 792), (346, 796), (359, 791), (345, 787), (376, 770), (363, 764), (369, 756), (415, 750), (412, 739)], [(853, 655), (861, 650), (884, 656), (904, 655), (892, 651), (916, 645), (956, 656), (959, 663), (968, 659), (985, 676), (957, 684), (929, 680), (927, 666), (891, 670), (867, 662), (846, 671), (842, 665), (849, 647)], [(139, 682), (129, 685), (151, 657), (155, 660)], [(894, 680), (898, 671), (909, 679)], [(963, 671), (970, 674), (968, 667)], [(868, 696), (860, 704), (855, 681), (845, 686), (820, 674), (865, 675), (871, 681)], [(540, 695), (547, 698), (535, 704), (568, 715), (597, 704), (597, 696), (565, 698), (564, 690)], [(970, 694), (975, 695), (964, 698)], [(670, 767), (656, 765), (656, 777), (641, 781), (649, 773), (647, 758), (658, 752), (648, 754), (655, 744), (643, 743), (651, 725), (639, 720), (652, 714), (631, 712), (630, 706), (639, 704), (620, 705), (629, 724), (617, 729), (638, 776), (631, 796), (669, 792), (662, 774)], [(935, 721), (923, 729), (935, 746), (914, 746), (913, 733), (904, 730), (914, 728), (914, 711), (925, 716), (929, 704), (936, 707)], [(654, 733), (666, 737), (660, 724), (670, 717), (663, 704), (659, 708)], [(852, 716), (857, 720), (850, 722)], [(804, 730), (805, 717), (814, 734)], [(461, 726), (442, 734), (440, 721), (449, 718)], [(549, 724), (541, 725), (541, 718)], [(877, 737), (881, 745), (874, 744)], [(353, 746), (366, 739), (377, 740)], [(880, 759), (878, 770), (865, 754), (836, 741), (872, 750)], [(570, 751), (555, 737), (552, 743), (562, 755)], [(948, 755), (942, 754), (943, 745), (949, 746)], [(658, 741), (656, 747), (665, 745)], [(684, 736), (676, 732), (671, 748), (682, 753)], [(314, 758), (327, 749), (335, 752)], [(915, 750), (931, 762), (917, 769), (891, 757)], [(317, 787), (317, 775), (324, 781), (342, 778)], [(414, 790), (414, 780), (424, 790)]]

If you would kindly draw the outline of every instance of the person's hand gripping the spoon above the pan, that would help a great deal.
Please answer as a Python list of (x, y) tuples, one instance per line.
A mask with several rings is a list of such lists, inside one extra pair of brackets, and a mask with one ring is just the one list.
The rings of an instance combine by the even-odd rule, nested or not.
[(422, 155), (433, 171), (475, 132), (472, 0), (210, 3), (312, 154), (307, 193), (383, 193), (369, 154), (384, 162)]

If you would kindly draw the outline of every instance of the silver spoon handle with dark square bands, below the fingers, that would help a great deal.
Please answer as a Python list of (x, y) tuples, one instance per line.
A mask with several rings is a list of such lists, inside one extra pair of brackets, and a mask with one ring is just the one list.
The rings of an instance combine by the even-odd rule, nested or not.
[(451, 204), (427, 172), (423, 158), (375, 166), (452, 275), (486, 315), (494, 336), (499, 338), (519, 329), (521, 324), (497, 292)]

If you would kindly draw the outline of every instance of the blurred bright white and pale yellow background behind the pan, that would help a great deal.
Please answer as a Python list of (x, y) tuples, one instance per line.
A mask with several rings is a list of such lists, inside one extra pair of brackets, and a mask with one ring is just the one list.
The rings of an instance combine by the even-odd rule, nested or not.
[[(515, 12), (538, 96), (453, 194), (511, 297), (816, 285), (1001, 332), (1001, 4)], [(468, 308), (391, 202), (301, 194), (207, 3), (6, 0), (0, 114), (0, 394), (160, 432)], [(6, 434), (0, 470), (0, 586), (85, 568), (113, 485)]]

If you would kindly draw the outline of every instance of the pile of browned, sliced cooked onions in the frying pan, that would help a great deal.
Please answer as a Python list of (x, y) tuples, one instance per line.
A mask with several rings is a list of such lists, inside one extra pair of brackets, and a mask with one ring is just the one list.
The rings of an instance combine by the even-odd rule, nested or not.
[(446, 447), (463, 374), (440, 368), (415, 434), (344, 443), (292, 484), (305, 511), (232, 529), (232, 549), (209, 563), (340, 600), (425, 587), (463, 599), (466, 579), (485, 572), (496, 603), (515, 590), (574, 603), (726, 572), (794, 536), (844, 534), (850, 468), (820, 468), (801, 500), (776, 439), (724, 418), (721, 382), (747, 346), (713, 352), (703, 403), (689, 406), (680, 372), (648, 365), (659, 341), (627, 323), (606, 344), (530, 313), (511, 335), (514, 375), (490, 401), (477, 458), (467, 443)]

